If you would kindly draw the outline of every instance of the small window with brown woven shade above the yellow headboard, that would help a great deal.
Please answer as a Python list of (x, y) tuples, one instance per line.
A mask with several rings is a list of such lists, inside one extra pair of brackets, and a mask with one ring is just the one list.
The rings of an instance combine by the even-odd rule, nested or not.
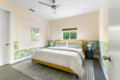
[(77, 39), (77, 28), (63, 29), (63, 40)]

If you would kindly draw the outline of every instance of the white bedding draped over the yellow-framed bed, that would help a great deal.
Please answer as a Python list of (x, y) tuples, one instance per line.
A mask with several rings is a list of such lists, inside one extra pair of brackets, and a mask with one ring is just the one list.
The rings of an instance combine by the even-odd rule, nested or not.
[(81, 78), (84, 74), (82, 62), (85, 56), (82, 49), (49, 47), (35, 52), (31, 58), (70, 68)]

